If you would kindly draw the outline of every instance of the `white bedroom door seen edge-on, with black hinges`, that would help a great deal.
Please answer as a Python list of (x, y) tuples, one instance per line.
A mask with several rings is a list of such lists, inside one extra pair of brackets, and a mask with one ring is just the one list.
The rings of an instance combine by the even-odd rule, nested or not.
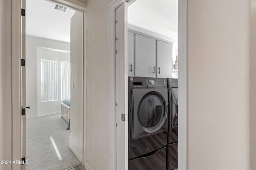
[(21, 160), (22, 170), (26, 170), (26, 18), (25, 18), (26, 0), (22, 0), (21, 16), (21, 72), (22, 72), (22, 116), (21, 116)]

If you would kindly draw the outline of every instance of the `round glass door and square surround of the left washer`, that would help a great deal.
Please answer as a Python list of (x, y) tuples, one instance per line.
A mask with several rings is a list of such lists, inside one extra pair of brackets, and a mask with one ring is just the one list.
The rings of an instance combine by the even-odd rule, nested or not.
[[(140, 97), (140, 101), (134, 102), (133, 139), (166, 130), (166, 128), (162, 128), (168, 110), (166, 99), (160, 92), (153, 91), (154, 89), (146, 90), (148, 92)], [(160, 90), (166, 91), (166, 89)]]

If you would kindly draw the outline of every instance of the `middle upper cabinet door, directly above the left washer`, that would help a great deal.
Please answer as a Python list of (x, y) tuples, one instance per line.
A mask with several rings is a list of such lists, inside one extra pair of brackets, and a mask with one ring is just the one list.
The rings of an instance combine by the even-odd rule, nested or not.
[(156, 40), (135, 34), (135, 76), (155, 77)]

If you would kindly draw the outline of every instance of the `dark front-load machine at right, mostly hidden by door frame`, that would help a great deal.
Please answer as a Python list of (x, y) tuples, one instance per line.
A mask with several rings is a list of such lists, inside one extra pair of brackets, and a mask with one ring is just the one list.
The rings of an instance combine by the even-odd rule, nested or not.
[(167, 170), (178, 167), (178, 79), (168, 78), (168, 143), (166, 146)]

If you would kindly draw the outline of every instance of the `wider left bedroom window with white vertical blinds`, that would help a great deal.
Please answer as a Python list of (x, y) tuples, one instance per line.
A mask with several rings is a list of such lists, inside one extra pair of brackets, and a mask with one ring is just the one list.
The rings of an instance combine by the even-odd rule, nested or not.
[(41, 59), (41, 101), (58, 100), (57, 61)]

